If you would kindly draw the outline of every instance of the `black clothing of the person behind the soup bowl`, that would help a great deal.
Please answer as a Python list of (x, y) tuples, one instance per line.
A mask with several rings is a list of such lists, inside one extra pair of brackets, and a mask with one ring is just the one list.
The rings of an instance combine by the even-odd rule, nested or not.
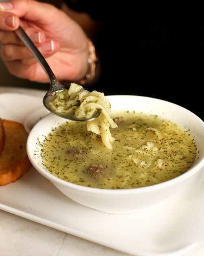
[(111, 6), (99, 0), (66, 2), (103, 24), (94, 41), (102, 75), (89, 90), (164, 99), (204, 120), (201, 0), (136, 0)]

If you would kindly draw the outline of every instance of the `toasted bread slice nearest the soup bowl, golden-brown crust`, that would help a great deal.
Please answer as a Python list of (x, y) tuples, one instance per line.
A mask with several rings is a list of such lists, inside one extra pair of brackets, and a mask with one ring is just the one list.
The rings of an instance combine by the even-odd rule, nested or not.
[(2, 119), (5, 130), (5, 145), (0, 157), (0, 185), (18, 180), (31, 167), (26, 152), (28, 133), (15, 121)]

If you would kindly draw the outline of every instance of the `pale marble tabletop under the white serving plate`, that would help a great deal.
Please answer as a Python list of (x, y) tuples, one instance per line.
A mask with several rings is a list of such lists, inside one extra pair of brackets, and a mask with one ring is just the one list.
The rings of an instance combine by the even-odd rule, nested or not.
[[(25, 92), (25, 89), (3, 88), (2, 92)], [(29, 93), (35, 92), (27, 89)], [(35, 92), (42, 96), (44, 92)], [(168, 231), (167, 231), (168, 232)], [(128, 256), (123, 252), (98, 245), (0, 210), (0, 256)], [(181, 256), (203, 256), (198, 247)]]

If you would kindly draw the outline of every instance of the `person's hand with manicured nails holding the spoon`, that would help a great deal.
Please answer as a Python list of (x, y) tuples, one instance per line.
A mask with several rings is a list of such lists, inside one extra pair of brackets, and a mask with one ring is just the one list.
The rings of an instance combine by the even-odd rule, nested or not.
[(83, 29), (53, 5), (34, 0), (0, 2), (0, 55), (9, 72), (48, 82), (41, 65), (13, 32), (21, 25), (46, 58), (58, 80), (82, 79), (88, 69), (88, 43)]

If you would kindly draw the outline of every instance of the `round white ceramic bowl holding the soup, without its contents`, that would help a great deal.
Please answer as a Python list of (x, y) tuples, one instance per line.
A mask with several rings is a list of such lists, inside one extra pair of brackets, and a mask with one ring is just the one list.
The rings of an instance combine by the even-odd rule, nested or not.
[[(87, 207), (107, 213), (132, 213), (164, 200), (177, 191), (204, 166), (204, 122), (189, 110), (173, 103), (149, 97), (114, 95), (107, 96), (112, 110), (135, 110), (159, 115), (178, 125), (189, 127), (197, 144), (197, 159), (184, 174), (167, 182), (136, 189), (96, 189), (72, 184), (50, 174), (43, 166), (39, 155), (40, 146), (51, 128), (66, 121), (52, 114), (42, 118), (31, 130), (27, 141), (27, 153), (33, 166), (72, 200)], [(36, 155), (37, 154), (37, 155)]]

